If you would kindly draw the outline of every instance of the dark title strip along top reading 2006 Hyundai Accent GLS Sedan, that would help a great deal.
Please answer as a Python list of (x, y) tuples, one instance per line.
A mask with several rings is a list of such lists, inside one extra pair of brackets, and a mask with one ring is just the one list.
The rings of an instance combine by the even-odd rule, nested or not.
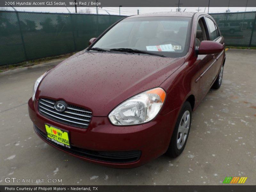
[(0, 0), (0, 7), (256, 7), (256, 0)]

